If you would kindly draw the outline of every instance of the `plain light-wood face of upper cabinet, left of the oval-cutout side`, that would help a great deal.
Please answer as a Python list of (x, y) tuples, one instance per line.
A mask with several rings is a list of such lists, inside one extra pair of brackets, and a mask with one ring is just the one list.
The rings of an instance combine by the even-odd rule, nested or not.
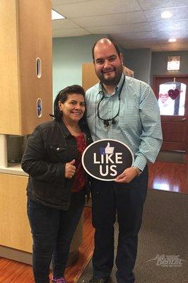
[[(10, 21), (11, 19), (11, 21)], [(0, 1), (0, 134), (19, 132), (16, 1)]]

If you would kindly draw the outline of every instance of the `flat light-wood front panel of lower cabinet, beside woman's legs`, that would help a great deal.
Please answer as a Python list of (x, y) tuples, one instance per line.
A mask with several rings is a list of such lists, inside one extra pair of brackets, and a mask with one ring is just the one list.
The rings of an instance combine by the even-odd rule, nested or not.
[(32, 252), (25, 189), (28, 177), (0, 174), (0, 245)]

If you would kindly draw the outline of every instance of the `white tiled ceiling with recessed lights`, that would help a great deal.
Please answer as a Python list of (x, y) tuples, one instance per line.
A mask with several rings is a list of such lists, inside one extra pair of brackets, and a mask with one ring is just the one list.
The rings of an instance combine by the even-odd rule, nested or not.
[[(53, 37), (107, 34), (127, 49), (188, 50), (188, 0), (52, 0)], [(170, 19), (162, 19), (163, 11)], [(168, 39), (176, 37), (177, 42)]]

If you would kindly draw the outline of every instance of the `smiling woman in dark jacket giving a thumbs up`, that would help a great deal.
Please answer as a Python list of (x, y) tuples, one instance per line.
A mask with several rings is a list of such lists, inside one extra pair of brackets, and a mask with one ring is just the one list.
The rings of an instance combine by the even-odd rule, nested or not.
[(68, 86), (54, 100), (54, 120), (35, 128), (21, 166), (28, 173), (28, 218), (33, 233), (36, 283), (66, 283), (64, 270), (83, 212), (86, 177), (81, 155), (90, 142), (84, 122), (85, 92)]

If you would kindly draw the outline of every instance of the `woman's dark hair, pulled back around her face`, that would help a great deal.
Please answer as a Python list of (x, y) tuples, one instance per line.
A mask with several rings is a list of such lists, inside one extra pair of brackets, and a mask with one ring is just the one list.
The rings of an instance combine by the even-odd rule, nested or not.
[[(62, 112), (59, 110), (59, 101), (61, 101), (61, 103), (64, 103), (68, 96), (70, 94), (81, 94), (84, 98), (85, 104), (86, 104), (86, 100), (85, 100), (85, 91), (81, 86), (78, 86), (76, 84), (74, 84), (73, 86), (67, 86), (66, 88), (62, 89), (61, 91), (59, 91), (59, 93), (57, 94), (57, 97), (54, 100), (54, 115), (50, 115), (51, 117), (54, 117), (54, 120), (56, 121), (61, 121), (62, 119)], [(83, 120), (86, 119), (86, 111), (83, 115), (83, 117), (81, 118), (81, 120), (79, 121), (82, 122)]]

